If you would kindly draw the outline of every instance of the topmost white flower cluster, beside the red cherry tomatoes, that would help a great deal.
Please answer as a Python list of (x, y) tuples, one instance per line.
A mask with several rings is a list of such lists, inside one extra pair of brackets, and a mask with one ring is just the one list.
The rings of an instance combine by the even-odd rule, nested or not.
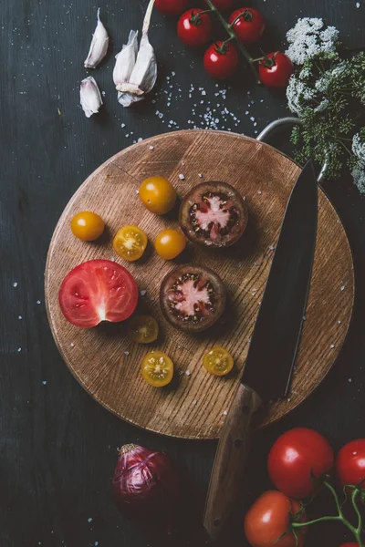
[(303, 17), (287, 32), (287, 57), (296, 65), (303, 65), (313, 57), (326, 57), (336, 53), (339, 31), (334, 26), (323, 29), (323, 19)]

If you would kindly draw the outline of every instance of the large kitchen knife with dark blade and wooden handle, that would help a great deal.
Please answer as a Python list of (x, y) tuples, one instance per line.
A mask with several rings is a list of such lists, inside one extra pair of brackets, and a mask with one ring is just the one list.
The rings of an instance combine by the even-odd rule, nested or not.
[(297, 356), (316, 248), (318, 184), (311, 161), (291, 192), (255, 322), (241, 383), (224, 421), (203, 526), (212, 539), (224, 528), (242, 488), (255, 413), (286, 397)]

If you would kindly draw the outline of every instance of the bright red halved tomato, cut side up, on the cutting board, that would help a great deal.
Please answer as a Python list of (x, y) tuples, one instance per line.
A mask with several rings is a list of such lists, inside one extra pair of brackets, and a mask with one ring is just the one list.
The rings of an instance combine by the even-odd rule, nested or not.
[(130, 317), (138, 301), (138, 288), (130, 273), (110, 260), (79, 264), (63, 280), (59, 305), (72, 325), (119, 323)]

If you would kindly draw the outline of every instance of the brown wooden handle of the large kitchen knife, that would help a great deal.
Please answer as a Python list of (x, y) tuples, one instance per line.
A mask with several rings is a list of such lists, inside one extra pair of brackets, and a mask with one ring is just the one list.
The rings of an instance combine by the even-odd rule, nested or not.
[(261, 405), (257, 393), (240, 384), (225, 418), (205, 504), (203, 526), (212, 540), (218, 538), (235, 504), (249, 451), (252, 418)]

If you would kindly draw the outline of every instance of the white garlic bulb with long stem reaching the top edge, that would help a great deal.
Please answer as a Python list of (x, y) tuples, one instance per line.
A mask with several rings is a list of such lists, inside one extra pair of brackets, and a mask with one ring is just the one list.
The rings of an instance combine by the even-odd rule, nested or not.
[(151, 0), (144, 17), (140, 49), (137, 55), (137, 33), (130, 31), (127, 46), (116, 57), (113, 78), (118, 100), (123, 107), (130, 107), (150, 93), (157, 79), (157, 62), (150, 44), (148, 31), (155, 0)]

